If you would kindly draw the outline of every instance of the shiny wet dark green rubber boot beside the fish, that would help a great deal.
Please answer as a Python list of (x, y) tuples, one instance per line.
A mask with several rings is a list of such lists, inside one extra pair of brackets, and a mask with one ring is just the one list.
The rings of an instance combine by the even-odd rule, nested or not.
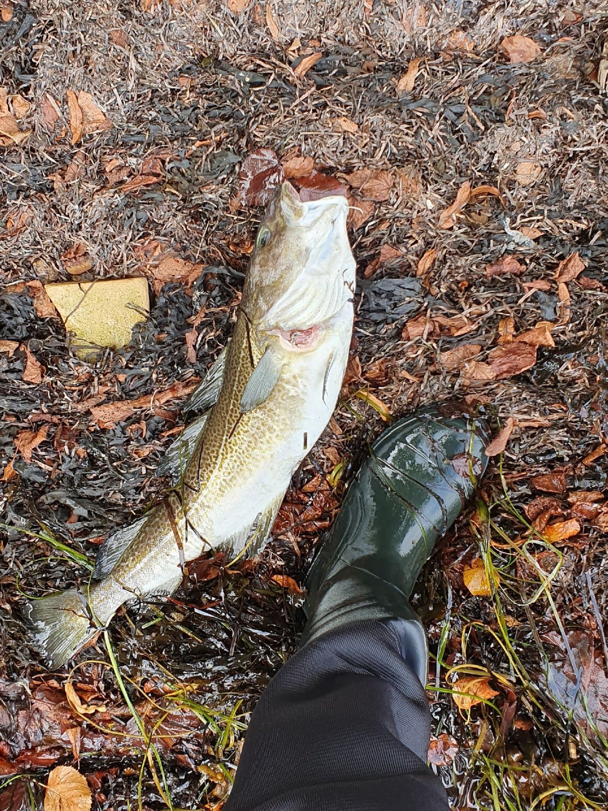
[(413, 620), (426, 680), (426, 639), (409, 596), (486, 470), (485, 446), (480, 418), (435, 409), (383, 431), (310, 569), (302, 644), (359, 620)]

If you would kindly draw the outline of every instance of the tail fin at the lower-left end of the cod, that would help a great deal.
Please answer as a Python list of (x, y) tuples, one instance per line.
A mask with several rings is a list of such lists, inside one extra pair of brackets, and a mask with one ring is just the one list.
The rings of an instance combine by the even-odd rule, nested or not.
[(83, 595), (75, 589), (34, 600), (25, 614), (51, 670), (65, 664), (98, 631), (89, 622)]

